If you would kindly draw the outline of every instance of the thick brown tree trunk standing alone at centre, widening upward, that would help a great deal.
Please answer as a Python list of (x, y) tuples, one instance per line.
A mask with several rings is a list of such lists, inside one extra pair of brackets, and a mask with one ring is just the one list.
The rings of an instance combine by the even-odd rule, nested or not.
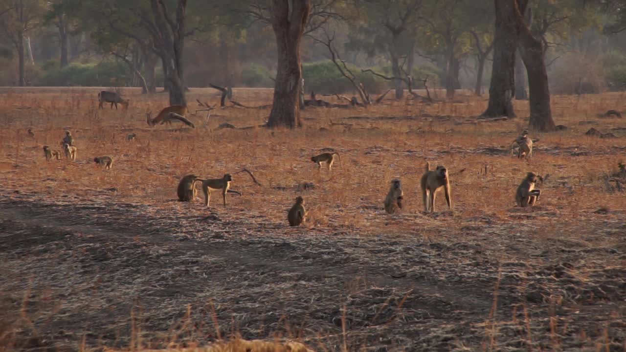
[(274, 103), (267, 126), (300, 127), (300, 41), (309, 18), (310, 0), (272, 0), (272, 8), (278, 70), (274, 85)]

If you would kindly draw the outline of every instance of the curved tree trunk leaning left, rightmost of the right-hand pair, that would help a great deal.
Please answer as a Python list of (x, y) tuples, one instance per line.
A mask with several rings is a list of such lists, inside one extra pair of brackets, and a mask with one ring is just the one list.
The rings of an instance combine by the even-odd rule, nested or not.
[[(515, 1), (515, 0), (513, 0)], [(545, 44), (535, 38), (524, 23), (522, 9), (516, 11), (516, 24), (520, 27), (520, 54), (528, 72), (530, 91), (530, 128), (540, 131), (555, 130), (550, 109), (550, 89), (545, 65)]]

